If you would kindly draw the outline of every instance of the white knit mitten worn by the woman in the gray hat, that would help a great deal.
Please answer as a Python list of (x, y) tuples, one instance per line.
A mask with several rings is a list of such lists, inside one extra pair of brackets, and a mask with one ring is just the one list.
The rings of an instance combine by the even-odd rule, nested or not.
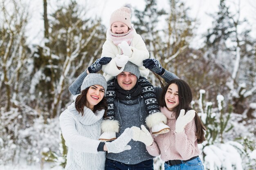
[(106, 142), (106, 147), (108, 152), (119, 153), (124, 150), (130, 150), (130, 145), (127, 145), (129, 141), (132, 139), (133, 131), (130, 128), (126, 128), (124, 132), (112, 142)]

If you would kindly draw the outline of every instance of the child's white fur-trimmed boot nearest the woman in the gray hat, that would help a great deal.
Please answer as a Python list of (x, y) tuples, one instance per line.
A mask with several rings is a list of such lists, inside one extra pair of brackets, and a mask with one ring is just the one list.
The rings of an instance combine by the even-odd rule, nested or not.
[(100, 141), (112, 141), (117, 139), (116, 133), (119, 132), (119, 122), (117, 120), (103, 120), (101, 123), (102, 134)]

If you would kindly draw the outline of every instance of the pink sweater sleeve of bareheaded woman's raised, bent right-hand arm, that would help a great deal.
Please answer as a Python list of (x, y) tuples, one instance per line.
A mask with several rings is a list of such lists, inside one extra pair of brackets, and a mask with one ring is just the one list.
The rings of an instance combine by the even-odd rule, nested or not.
[(174, 132), (175, 146), (183, 160), (190, 159), (191, 157), (194, 157), (195, 155), (198, 154), (195, 153), (198, 152), (197, 137), (195, 135), (195, 132), (196, 126), (194, 119), (185, 126), (185, 130), (183, 130), (183, 132)]

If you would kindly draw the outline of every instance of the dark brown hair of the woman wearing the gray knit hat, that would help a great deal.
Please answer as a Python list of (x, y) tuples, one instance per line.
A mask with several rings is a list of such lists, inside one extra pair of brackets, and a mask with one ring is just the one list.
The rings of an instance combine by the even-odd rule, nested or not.
[[(86, 106), (86, 103), (87, 103), (86, 94), (87, 94), (89, 88), (90, 87), (85, 88), (81, 92), (81, 94), (76, 97), (75, 107), (76, 107), (76, 110), (82, 114), (82, 116), (84, 114), (83, 108)], [(94, 106), (94, 109), (92, 110), (92, 112), (95, 113), (97, 110), (105, 109), (104, 115), (106, 116), (107, 108), (108, 108), (107, 99), (106, 99), (106, 97), (103, 97), (102, 100), (97, 105)]]

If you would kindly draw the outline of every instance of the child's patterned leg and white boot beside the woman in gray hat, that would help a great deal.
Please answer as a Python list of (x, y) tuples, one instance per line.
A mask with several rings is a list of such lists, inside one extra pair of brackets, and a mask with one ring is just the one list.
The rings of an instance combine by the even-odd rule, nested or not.
[(116, 139), (116, 133), (119, 131), (119, 122), (117, 120), (114, 120), (115, 90), (114, 90), (113, 80), (108, 81), (106, 98), (107, 98), (108, 110), (107, 110), (107, 116), (104, 117), (104, 120), (101, 123), (102, 134), (99, 137), (99, 140), (112, 141)]

